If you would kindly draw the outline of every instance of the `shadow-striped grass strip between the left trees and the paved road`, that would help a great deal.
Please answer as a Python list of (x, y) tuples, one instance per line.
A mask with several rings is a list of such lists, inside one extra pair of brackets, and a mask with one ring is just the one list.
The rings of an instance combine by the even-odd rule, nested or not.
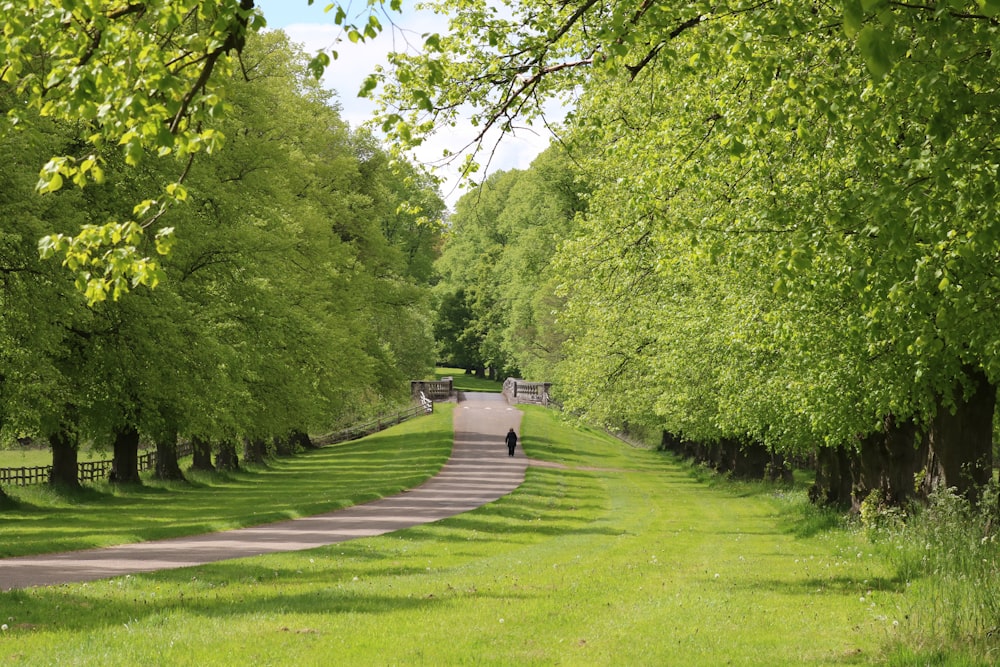
[[(364, 440), (324, 447), (233, 473), (188, 473), (188, 482), (141, 487), (8, 487), (16, 511), (0, 523), (0, 557), (193, 535), (319, 514), (416, 486), (451, 451), (451, 411)], [(147, 476), (148, 477), (148, 476)]]

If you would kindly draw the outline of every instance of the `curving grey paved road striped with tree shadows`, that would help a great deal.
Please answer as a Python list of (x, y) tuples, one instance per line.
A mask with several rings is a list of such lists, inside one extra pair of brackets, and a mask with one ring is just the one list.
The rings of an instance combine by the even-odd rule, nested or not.
[(91, 581), (202, 565), (278, 551), (312, 549), (430, 523), (485, 505), (524, 481), (528, 459), (507, 455), (503, 437), (521, 432), (521, 411), (501, 394), (466, 394), (454, 413), (455, 444), (441, 472), (389, 498), (336, 512), (222, 533), (107, 549), (0, 559), (0, 590)]

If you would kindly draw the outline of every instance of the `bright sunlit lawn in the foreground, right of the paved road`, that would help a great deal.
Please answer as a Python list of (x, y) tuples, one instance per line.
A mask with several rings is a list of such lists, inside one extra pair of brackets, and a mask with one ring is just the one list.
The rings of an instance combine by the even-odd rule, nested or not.
[(377, 538), (0, 594), (0, 664), (977, 664), (887, 653), (909, 590), (861, 533), (800, 530), (801, 492), (525, 412), (527, 453), (571, 468)]

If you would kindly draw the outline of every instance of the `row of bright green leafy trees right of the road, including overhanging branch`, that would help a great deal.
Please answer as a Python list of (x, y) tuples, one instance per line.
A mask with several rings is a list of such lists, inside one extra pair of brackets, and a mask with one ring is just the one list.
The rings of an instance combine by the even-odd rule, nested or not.
[(821, 502), (978, 497), (996, 3), (436, 5), (448, 36), (372, 82), (385, 118), (462, 99), (514, 131), (572, 98), (557, 145), (459, 203), (437, 288), (456, 355), (721, 470), (811, 460)]

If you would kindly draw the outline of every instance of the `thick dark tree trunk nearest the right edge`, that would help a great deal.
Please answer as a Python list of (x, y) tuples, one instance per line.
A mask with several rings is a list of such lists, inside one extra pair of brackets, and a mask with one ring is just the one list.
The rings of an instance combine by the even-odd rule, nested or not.
[(959, 495), (977, 502), (993, 476), (996, 386), (980, 369), (967, 369), (966, 377), (967, 387), (960, 384), (953, 390), (954, 406), (948, 408), (939, 400), (931, 420), (923, 488), (929, 492), (954, 487)]

